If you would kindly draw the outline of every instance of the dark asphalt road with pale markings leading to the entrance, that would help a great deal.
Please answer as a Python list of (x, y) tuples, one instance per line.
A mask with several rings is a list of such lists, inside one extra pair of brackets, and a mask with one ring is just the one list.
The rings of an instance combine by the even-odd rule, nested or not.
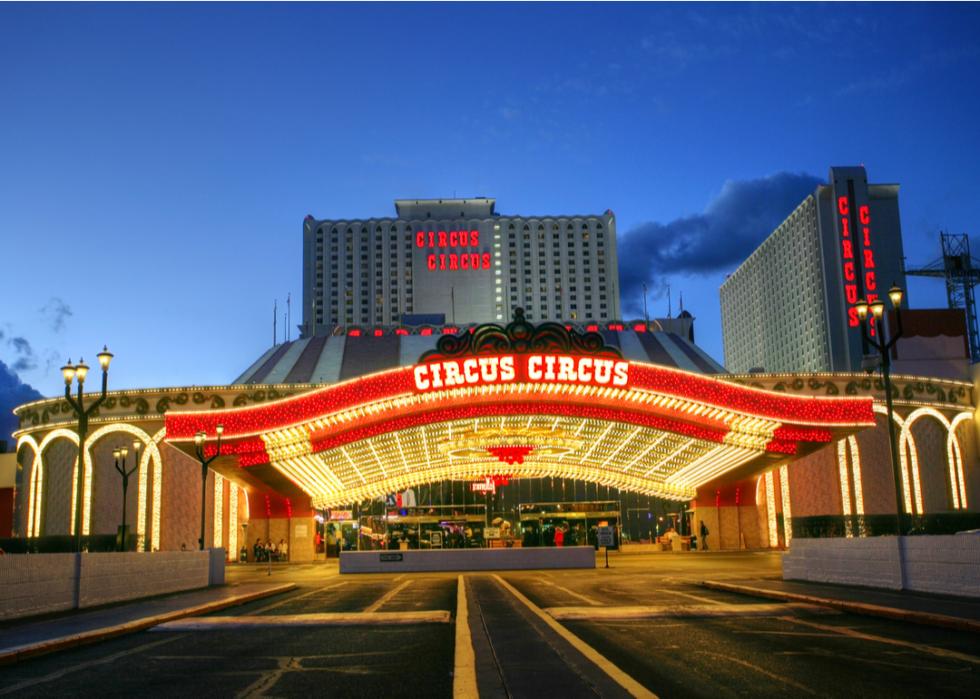
[(6, 667), (0, 694), (451, 696), (460, 584), (484, 697), (894, 699), (975, 696), (980, 685), (975, 634), (698, 584), (776, 576), (777, 555), (621, 556), (612, 566), (463, 578), (282, 566), (271, 579), (295, 581), (293, 592)]

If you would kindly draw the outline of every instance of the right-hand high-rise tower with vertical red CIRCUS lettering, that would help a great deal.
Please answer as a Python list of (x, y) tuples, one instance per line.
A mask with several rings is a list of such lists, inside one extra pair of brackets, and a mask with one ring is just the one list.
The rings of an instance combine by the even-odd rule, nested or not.
[(898, 185), (869, 185), (863, 167), (831, 168), (829, 184), (721, 285), (725, 368), (859, 370), (855, 304), (884, 299), (892, 284), (905, 288), (902, 257)]

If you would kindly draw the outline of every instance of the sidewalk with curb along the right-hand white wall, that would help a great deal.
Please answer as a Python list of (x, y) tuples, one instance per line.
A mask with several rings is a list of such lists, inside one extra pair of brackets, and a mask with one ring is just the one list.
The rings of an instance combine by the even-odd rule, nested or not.
[(705, 580), (701, 584), (713, 590), (737, 592), (753, 597), (807, 602), (852, 614), (980, 632), (980, 598), (945, 597), (778, 579), (744, 582)]

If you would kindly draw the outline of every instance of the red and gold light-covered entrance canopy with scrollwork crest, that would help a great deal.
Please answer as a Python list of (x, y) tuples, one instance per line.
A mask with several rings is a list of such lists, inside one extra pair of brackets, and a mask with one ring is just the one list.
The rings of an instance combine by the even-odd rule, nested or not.
[(492, 476), (686, 500), (870, 427), (874, 414), (871, 398), (785, 395), (626, 361), (596, 333), (518, 316), (445, 336), (414, 366), (260, 406), (169, 412), (167, 440), (190, 452), (203, 431), (214, 454), (218, 425), (222, 455), (336, 507)]

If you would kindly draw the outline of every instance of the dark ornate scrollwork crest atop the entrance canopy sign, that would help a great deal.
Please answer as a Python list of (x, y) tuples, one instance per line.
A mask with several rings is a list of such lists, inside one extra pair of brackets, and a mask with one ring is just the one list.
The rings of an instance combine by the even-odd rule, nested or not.
[[(524, 318), (524, 309), (514, 309), (514, 320), (506, 327), (496, 323), (477, 326), (472, 332), (443, 335), (436, 348), (419, 357), (420, 362), (453, 359), (474, 354), (499, 352), (564, 352), (592, 354), (622, 359), (616, 347), (610, 347), (597, 332), (580, 333), (560, 323), (533, 325)], [(236, 399), (237, 400), (237, 399)], [(237, 404), (237, 403), (236, 403)]]

